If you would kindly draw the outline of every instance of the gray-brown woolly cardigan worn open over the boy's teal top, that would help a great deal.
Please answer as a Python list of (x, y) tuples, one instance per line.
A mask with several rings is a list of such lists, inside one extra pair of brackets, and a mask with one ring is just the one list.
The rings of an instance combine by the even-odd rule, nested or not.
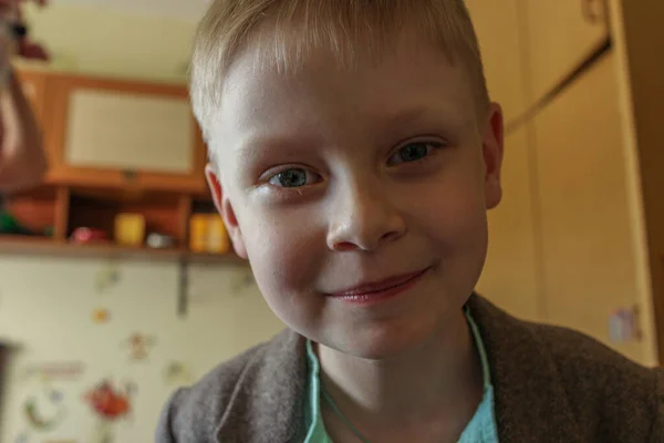
[[(500, 442), (664, 442), (664, 370), (578, 332), (469, 300), (496, 394)], [(304, 339), (284, 331), (222, 363), (165, 406), (158, 443), (302, 442)]]

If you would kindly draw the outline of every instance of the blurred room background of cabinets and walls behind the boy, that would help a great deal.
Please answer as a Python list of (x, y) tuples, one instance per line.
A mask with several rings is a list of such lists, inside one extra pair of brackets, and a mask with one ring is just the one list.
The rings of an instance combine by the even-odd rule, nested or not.
[[(506, 116), (477, 290), (660, 364), (664, 2), (467, 4)], [(203, 177), (186, 74), (205, 8), (23, 7), (43, 56), (14, 66), (50, 169), (0, 207), (0, 443), (153, 441), (177, 387), (282, 328)]]

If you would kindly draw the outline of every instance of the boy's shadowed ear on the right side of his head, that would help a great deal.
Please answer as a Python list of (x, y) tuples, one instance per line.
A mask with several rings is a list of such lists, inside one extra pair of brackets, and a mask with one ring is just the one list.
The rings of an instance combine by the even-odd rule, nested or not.
[(504, 142), (502, 110), (491, 103), (489, 119), (483, 130), (483, 156), (485, 163), (485, 196), (487, 209), (492, 209), (502, 198), (500, 168), (502, 167)]

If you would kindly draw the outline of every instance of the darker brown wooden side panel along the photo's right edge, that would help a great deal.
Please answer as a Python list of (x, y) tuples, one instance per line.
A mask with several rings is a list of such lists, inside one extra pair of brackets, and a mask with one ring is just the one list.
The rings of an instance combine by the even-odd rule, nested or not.
[[(651, 305), (664, 365), (664, 2), (614, 0), (612, 18), (615, 48), (622, 54), (622, 110), (632, 153), (626, 159), (637, 165), (641, 176), (639, 186), (633, 187), (633, 193), (642, 196), (634, 213), (642, 215), (642, 239), (647, 245), (641, 267), (650, 274), (644, 285), (653, 292)], [(650, 316), (642, 317), (646, 326), (652, 324)]]

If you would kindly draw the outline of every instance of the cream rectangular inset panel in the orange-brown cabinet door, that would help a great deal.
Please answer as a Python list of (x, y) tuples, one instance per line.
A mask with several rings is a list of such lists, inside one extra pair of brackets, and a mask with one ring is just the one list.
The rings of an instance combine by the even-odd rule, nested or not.
[(191, 174), (194, 122), (186, 99), (74, 91), (69, 100), (65, 162)]

